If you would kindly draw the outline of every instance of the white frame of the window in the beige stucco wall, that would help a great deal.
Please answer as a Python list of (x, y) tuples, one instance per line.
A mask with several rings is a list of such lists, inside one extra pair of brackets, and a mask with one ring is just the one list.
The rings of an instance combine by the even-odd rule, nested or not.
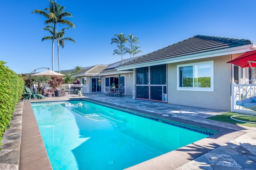
[[(194, 80), (194, 66), (201, 64), (210, 64), (211, 66), (211, 87), (210, 88), (202, 88), (202, 87), (180, 87), (180, 67), (184, 66), (193, 66), (193, 80)], [(198, 63), (189, 63), (189, 64), (179, 64), (177, 65), (177, 90), (185, 90), (185, 91), (204, 91), (204, 92), (213, 92), (213, 82), (214, 82), (214, 69), (213, 69), (213, 61), (204, 61)]]

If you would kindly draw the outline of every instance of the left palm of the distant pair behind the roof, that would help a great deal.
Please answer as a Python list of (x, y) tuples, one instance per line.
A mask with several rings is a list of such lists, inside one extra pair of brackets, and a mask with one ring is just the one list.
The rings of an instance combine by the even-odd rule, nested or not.
[(127, 38), (125, 37), (124, 33), (120, 33), (120, 35), (118, 34), (114, 34), (114, 38), (111, 39), (111, 44), (112, 43), (116, 43), (118, 49), (114, 50), (113, 55), (118, 54), (121, 55), (122, 60), (123, 60), (123, 55), (126, 53), (126, 48), (124, 47), (124, 43), (127, 43)]

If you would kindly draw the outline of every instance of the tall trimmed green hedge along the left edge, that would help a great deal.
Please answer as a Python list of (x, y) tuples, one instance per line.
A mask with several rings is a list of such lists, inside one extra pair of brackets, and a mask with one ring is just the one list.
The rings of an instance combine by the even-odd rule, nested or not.
[(12, 113), (24, 92), (24, 80), (0, 61), (0, 145), (4, 131), (10, 128)]

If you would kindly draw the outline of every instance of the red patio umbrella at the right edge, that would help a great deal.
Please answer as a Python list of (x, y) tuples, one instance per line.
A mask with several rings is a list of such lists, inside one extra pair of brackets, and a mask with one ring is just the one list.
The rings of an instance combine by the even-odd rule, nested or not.
[(236, 64), (242, 68), (250, 67), (250, 64), (252, 67), (256, 67), (256, 50), (245, 52), (243, 55), (240, 55), (227, 63)]

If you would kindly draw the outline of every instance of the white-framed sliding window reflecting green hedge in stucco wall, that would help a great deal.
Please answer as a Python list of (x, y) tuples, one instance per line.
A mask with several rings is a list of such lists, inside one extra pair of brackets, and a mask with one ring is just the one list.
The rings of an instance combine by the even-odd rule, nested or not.
[(178, 90), (213, 91), (213, 61), (177, 65)]

